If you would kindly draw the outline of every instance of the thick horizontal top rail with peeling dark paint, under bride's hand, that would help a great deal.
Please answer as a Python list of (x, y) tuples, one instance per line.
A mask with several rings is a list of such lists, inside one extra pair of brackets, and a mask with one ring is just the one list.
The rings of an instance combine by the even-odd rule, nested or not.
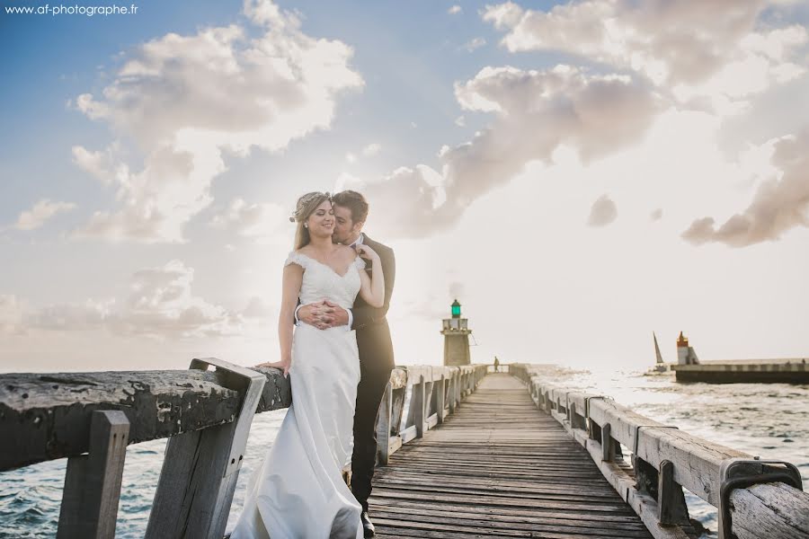
[[(289, 407), (289, 379), (254, 370), (267, 376), (256, 412)], [(123, 411), (137, 444), (231, 422), (239, 403), (217, 371), (0, 375), (0, 471), (86, 453), (93, 411)]]

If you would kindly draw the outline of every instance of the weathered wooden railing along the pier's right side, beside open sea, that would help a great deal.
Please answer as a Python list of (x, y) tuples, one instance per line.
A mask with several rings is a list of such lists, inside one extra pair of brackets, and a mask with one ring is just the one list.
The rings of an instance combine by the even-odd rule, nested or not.
[(720, 539), (809, 538), (809, 494), (793, 464), (760, 460), (604, 395), (551, 384), (530, 365), (511, 365), (510, 372), (528, 385), (538, 408), (587, 449), (654, 537), (686, 539), (680, 527), (689, 526), (684, 487), (718, 509)]

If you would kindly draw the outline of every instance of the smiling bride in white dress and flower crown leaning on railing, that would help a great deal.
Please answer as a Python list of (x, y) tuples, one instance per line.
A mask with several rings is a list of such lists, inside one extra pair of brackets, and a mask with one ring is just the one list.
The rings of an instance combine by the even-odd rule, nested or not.
[[(346, 326), (321, 330), (300, 324), (295, 308), (329, 299), (351, 308), (357, 293), (381, 306), (381, 262), (367, 245), (332, 243), (334, 212), (328, 193), (298, 199), (290, 220), (298, 222), (295, 251), (283, 271), (278, 323), (278, 367), (291, 375), (292, 405), (275, 443), (253, 474), (231, 539), (362, 537), (360, 504), (342, 480), (351, 463), (351, 434), (360, 361), (357, 340)], [(363, 260), (372, 264), (366, 273)]]

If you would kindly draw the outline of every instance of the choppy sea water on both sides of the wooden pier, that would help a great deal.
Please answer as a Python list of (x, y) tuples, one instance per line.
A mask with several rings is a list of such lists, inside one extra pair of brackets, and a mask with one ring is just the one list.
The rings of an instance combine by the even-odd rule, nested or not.
[[(761, 458), (798, 466), (809, 489), (809, 385), (677, 384), (673, 376), (635, 371), (576, 371), (542, 367), (543, 376), (571, 388), (606, 394), (645, 416)], [(244, 503), (247, 481), (261, 464), (286, 411), (253, 420), (228, 529)], [(129, 446), (116, 536), (142, 537), (155, 495), (165, 440)], [(0, 538), (56, 535), (67, 460), (0, 473)], [(716, 509), (686, 492), (691, 517), (716, 531)], [(716, 536), (708, 534), (707, 537)]]

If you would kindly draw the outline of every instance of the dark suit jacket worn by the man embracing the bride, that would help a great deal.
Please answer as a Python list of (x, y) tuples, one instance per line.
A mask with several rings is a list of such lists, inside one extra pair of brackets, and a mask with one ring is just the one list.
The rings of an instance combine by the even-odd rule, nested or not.
[[(394, 367), (393, 343), (390, 340), (390, 328), (387, 325), (387, 309), (390, 307), (390, 296), (393, 294), (396, 279), (396, 259), (393, 249), (370, 239), (365, 235), (363, 243), (379, 255), (382, 262), (382, 274), (385, 278), (385, 304), (372, 307), (361, 296), (357, 296), (351, 314), (354, 321), (351, 329), (357, 331), (357, 347), (360, 349), (360, 363), (372, 370), (388, 371)], [(366, 271), (373, 275), (372, 264), (366, 261)]]

